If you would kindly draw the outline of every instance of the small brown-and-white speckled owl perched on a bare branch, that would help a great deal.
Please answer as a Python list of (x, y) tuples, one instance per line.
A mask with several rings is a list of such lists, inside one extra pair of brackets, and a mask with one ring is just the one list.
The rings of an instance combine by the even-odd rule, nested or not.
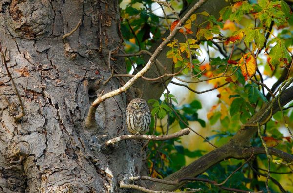
[(135, 98), (126, 108), (126, 125), (131, 134), (145, 134), (148, 132), (151, 115), (144, 99)]

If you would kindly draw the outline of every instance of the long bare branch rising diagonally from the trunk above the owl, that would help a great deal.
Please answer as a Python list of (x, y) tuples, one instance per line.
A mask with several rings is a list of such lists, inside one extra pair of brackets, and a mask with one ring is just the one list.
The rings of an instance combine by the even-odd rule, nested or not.
[[(91, 108), (97, 108), (98, 105), (103, 102), (104, 100), (114, 97), (116, 95), (119, 95), (126, 90), (128, 90), (135, 82), (137, 79), (142, 77), (154, 64), (156, 61), (156, 58), (158, 55), (162, 52), (163, 48), (167, 46), (167, 44), (175, 37), (176, 33), (179, 31), (179, 27), (182, 25), (182, 23), (185, 23), (185, 21), (190, 17), (190, 15), (197, 10), (202, 4), (204, 4), (207, 0), (199, 0), (186, 14), (185, 16), (177, 23), (176, 27), (174, 30), (170, 33), (170, 35), (157, 47), (153, 55), (149, 58), (149, 61), (147, 62), (146, 66), (139, 71), (134, 77), (132, 77), (126, 84), (114, 91), (111, 91), (109, 93), (106, 93), (105, 95), (102, 95), (101, 97), (98, 97), (92, 104)], [(92, 120), (95, 121), (93, 116), (94, 114), (88, 114), (88, 117), (86, 118), (87, 120)], [(85, 127), (90, 127), (90, 125), (87, 125), (85, 123)]]

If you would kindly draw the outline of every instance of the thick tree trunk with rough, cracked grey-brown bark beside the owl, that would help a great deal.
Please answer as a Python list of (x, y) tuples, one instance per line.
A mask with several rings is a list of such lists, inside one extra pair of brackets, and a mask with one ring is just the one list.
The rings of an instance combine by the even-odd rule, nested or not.
[[(80, 19), (81, 26), (62, 39)], [(116, 193), (122, 192), (117, 186), (126, 176), (146, 175), (140, 143), (104, 145), (126, 134), (130, 92), (100, 104), (97, 127), (83, 124), (97, 94), (126, 82), (112, 78), (103, 85), (111, 75), (109, 50), (122, 49), (118, 0), (2, 0), (0, 23), (2, 51), (7, 48), (25, 109), (15, 122), (20, 101), (1, 64), (0, 192)], [(110, 65), (126, 73), (123, 59)]]

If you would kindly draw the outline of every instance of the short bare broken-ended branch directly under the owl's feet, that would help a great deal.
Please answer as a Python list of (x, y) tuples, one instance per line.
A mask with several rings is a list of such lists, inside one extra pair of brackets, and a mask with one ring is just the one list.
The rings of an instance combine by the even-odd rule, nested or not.
[(135, 139), (135, 140), (139, 140), (139, 139), (144, 139), (144, 140), (151, 140), (151, 141), (165, 141), (165, 140), (169, 140), (169, 139), (173, 139), (173, 138), (178, 138), (181, 137), (183, 135), (188, 135), (190, 133), (190, 129), (186, 128), (183, 130), (180, 130), (179, 132), (176, 132), (174, 134), (171, 135), (163, 135), (163, 136), (155, 136), (155, 135), (122, 135), (116, 138), (113, 138), (111, 140), (108, 140), (106, 142), (106, 146), (112, 145), (114, 143), (117, 143), (119, 141), (122, 140), (128, 140), (128, 139)]

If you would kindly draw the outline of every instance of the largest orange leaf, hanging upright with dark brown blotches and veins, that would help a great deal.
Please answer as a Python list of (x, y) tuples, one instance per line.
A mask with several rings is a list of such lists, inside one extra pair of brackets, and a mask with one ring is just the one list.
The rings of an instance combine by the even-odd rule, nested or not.
[[(244, 62), (245, 59), (245, 62)], [(245, 77), (245, 80), (248, 80), (248, 77), (253, 76), (256, 73), (256, 61), (255, 58), (251, 56), (251, 53), (245, 54), (240, 60), (239, 60), (240, 68), (242, 75)]]

